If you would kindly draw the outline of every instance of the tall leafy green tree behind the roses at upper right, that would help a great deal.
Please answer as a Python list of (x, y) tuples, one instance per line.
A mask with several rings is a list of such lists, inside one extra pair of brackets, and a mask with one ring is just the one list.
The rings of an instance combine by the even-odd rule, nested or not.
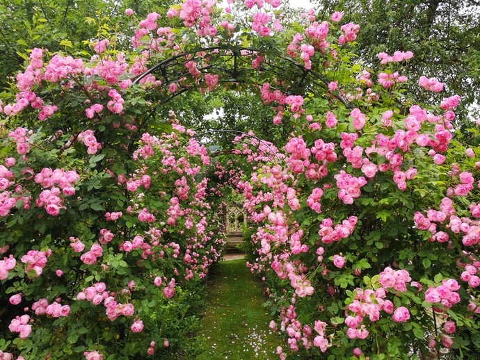
[[(413, 79), (436, 76), (447, 91), (461, 94), (459, 124), (480, 115), (480, 3), (459, 0), (323, 1), (320, 12), (342, 9), (349, 22), (360, 24), (353, 52), (378, 69), (377, 54), (413, 51), (406, 75)], [(411, 91), (416, 91), (411, 88)], [(416, 96), (426, 100), (416, 91)]]

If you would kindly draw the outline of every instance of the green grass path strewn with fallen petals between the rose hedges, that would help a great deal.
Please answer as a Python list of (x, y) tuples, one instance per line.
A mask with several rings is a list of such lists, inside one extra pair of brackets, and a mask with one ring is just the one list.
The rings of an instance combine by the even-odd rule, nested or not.
[(206, 351), (200, 360), (278, 359), (280, 338), (262, 306), (262, 290), (244, 259), (221, 261), (211, 278), (201, 336)]

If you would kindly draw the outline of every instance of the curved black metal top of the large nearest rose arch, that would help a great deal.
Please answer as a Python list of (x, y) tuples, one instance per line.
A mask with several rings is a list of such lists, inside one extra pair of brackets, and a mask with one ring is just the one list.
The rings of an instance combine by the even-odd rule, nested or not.
[[(154, 65), (154, 67), (148, 69), (146, 72), (138, 76), (134, 83), (139, 83), (142, 79), (150, 74), (160, 74), (159, 79), (162, 81), (163, 87), (168, 86), (171, 83), (177, 83), (180, 79), (188, 78), (191, 76), (186, 69), (186, 63), (195, 60), (205, 60), (205, 58), (221, 57), (224, 58), (221, 64), (209, 64), (198, 68), (202, 72), (216, 71), (224, 72), (227, 74), (225, 79), (221, 79), (221, 82), (239, 82), (241, 76), (246, 72), (271, 72), (280, 79), (284, 79), (285, 74), (291, 72), (287, 71), (287, 67), (280, 65), (280, 60), (283, 60), (289, 69), (294, 70), (294, 74), (291, 76), (292, 83), (290, 89), (303, 89), (307, 83), (307, 79), (310, 79), (311, 84), (321, 85), (323, 88), (328, 88), (328, 81), (323, 76), (314, 72), (312, 69), (305, 69), (305, 67), (296, 62), (293, 58), (284, 56), (282, 54), (275, 54), (273, 57), (278, 61), (264, 61), (258, 67), (253, 67), (251, 64), (251, 56), (254, 54), (265, 54), (265, 50), (255, 49), (252, 47), (234, 47), (234, 46), (216, 46), (216, 47), (202, 47), (199, 49), (193, 49), (191, 51), (185, 51), (182, 54), (177, 54), (162, 60), (161, 63)], [(248, 57), (248, 60), (246, 59)], [(221, 65), (230, 65), (230, 67), (222, 67)], [(293, 81), (298, 81), (293, 83)], [(175, 91), (164, 102), (177, 97), (178, 95), (186, 92), (192, 87), (191, 84), (184, 85), (181, 89)], [(334, 95), (346, 108), (349, 108), (349, 103), (342, 97), (342, 95)]]

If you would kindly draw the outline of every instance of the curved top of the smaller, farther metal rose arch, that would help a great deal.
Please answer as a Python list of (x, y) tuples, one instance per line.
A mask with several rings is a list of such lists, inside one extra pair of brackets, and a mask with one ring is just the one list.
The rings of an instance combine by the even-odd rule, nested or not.
[[(230, 141), (232, 143), (243, 143), (243, 144), (247, 144), (255, 147), (259, 152), (262, 152), (262, 154), (264, 154), (267, 158), (269, 158), (269, 160), (272, 163), (275, 163), (275, 160), (281, 161), (281, 158), (278, 155), (278, 153), (275, 152), (275, 150), (272, 149), (272, 147), (267, 142), (257, 138), (257, 136), (254, 136), (250, 133), (244, 133), (243, 131), (229, 130), (229, 129), (209, 130), (209, 131), (204, 131), (202, 133), (195, 134), (194, 138), (195, 140), (200, 142), (202, 145), (208, 145), (213, 142), (216, 142), (216, 140), (211, 140), (211, 139), (208, 139), (207, 137), (209, 135), (214, 135), (217, 133), (234, 136), (233, 138), (230, 138), (228, 140), (222, 139), (222, 141)], [(203, 139), (206, 139), (207, 142), (202, 141)]]

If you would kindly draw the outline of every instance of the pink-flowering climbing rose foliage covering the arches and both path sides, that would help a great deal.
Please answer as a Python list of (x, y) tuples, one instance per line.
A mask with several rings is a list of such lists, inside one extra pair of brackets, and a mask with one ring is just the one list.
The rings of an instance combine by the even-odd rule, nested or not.
[[(248, 266), (289, 356), (479, 352), (480, 135), (451, 125), (461, 96), (434, 74), (408, 79), (408, 49), (378, 54), (378, 74), (355, 63), (361, 28), (340, 12), (228, 3), (150, 13), (128, 52), (104, 33), (92, 54), (31, 49), (0, 106), (0, 357), (193, 354), (198, 287), (224, 244), (222, 179), (246, 199)], [(175, 113), (155, 115), (220, 85), (290, 133), (280, 151), (239, 145), (243, 172), (211, 162)]]

